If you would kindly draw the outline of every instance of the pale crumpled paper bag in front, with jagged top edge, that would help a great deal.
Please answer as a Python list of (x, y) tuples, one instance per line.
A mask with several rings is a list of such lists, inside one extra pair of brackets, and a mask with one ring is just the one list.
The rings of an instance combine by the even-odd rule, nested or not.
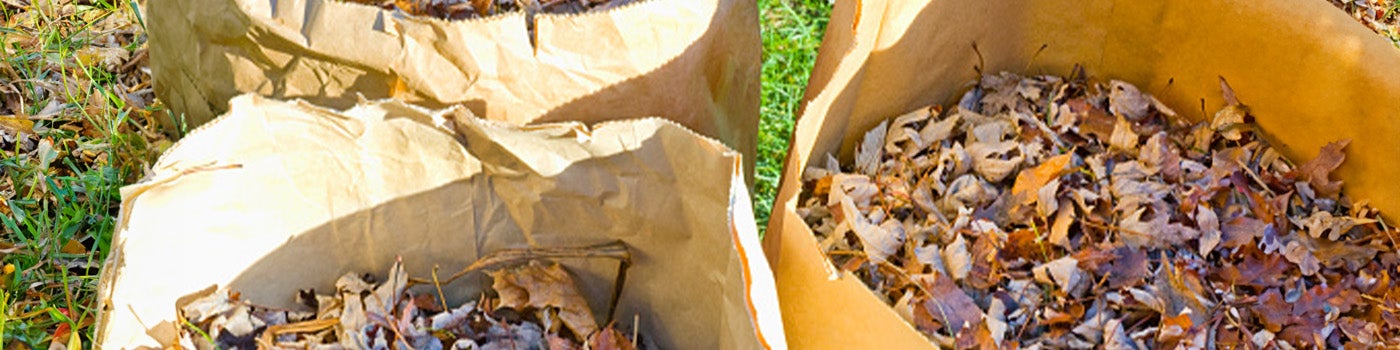
[[(454, 132), (455, 129), (455, 132)], [(347, 272), (451, 274), (504, 248), (623, 241), (619, 321), (665, 349), (785, 349), (739, 155), (662, 119), (529, 127), (374, 102), (346, 112), (258, 95), (122, 189), (97, 344), (167, 346), (176, 298), (218, 284), (295, 307)], [(594, 309), (617, 263), (563, 260)], [(486, 277), (444, 286), (475, 298)]]

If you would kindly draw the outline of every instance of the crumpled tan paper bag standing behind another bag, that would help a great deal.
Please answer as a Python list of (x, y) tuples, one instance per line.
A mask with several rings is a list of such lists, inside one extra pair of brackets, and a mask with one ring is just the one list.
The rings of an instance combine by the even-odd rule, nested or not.
[(739, 150), (753, 169), (762, 43), (752, 0), (540, 14), (535, 38), (524, 14), (449, 22), (339, 0), (151, 1), (148, 14), (155, 94), (189, 126), (242, 92), (339, 109), (357, 95), (462, 104), (517, 125), (665, 116)]

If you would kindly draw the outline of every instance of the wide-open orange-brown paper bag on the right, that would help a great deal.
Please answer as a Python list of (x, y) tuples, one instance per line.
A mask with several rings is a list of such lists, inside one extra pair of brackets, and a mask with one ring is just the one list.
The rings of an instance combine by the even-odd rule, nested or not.
[(1091, 77), (1133, 83), (1197, 120), (1224, 105), (1224, 77), (1294, 160), (1351, 139), (1334, 172), (1348, 196), (1400, 211), (1400, 50), (1327, 3), (837, 1), (764, 238), (792, 347), (931, 346), (830, 266), (795, 206), (812, 161), (850, 162), (881, 120), (956, 104), (979, 63), (990, 73), (1060, 76), (1084, 64)]

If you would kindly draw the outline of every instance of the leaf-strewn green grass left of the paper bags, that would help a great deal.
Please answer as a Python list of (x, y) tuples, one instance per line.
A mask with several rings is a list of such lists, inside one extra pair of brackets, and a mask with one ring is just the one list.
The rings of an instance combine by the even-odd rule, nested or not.
[[(43, 11), (0, 7), (0, 116), (34, 122), (29, 137), (0, 141), (6, 349), (92, 346), (98, 270), (111, 251), (119, 188), (136, 181), (158, 148), (148, 141), (161, 139), (144, 136), (134, 120), (153, 109), (129, 105), (148, 77), (80, 59), (106, 41), (127, 53), (144, 48), (139, 24), (113, 25), (122, 18), (134, 18), (130, 4), (111, 0)], [(57, 113), (32, 118), (50, 102)]]

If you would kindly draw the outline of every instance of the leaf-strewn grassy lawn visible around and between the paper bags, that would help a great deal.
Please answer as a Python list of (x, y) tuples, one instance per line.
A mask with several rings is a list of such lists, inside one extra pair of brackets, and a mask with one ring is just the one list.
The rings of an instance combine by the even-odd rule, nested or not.
[[(830, 3), (757, 1), (764, 55), (755, 210), (762, 228)], [(1385, 1), (1334, 3), (1400, 45), (1397, 4)], [(136, 7), (134, 0), (0, 0), (4, 349), (91, 347), (119, 188), (139, 181), (171, 143), (155, 132), (162, 111)]]

